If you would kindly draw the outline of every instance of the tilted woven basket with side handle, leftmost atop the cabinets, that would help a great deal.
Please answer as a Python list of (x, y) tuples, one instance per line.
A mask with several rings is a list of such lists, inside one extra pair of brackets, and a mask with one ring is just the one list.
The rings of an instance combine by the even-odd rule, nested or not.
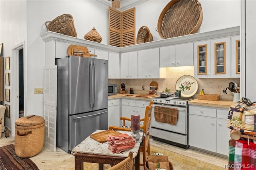
[(48, 31), (77, 37), (76, 28), (74, 26), (74, 19), (70, 14), (62, 14), (52, 21), (47, 21), (45, 22), (45, 26)]

